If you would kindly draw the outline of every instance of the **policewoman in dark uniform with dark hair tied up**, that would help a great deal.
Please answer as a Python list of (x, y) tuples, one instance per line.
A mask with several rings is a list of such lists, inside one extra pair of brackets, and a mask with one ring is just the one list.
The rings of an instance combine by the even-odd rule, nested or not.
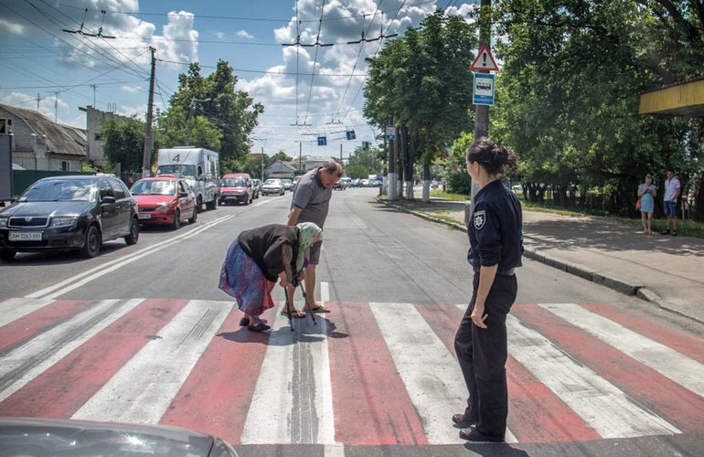
[(517, 169), (513, 152), (481, 138), (467, 152), (467, 173), (481, 187), (467, 225), (467, 260), (475, 271), (474, 292), (454, 349), (469, 391), (464, 413), (453, 423), (469, 441), (504, 441), (508, 414), (506, 316), (516, 300), (515, 269), (523, 236), (518, 198), (501, 182), (505, 166)]

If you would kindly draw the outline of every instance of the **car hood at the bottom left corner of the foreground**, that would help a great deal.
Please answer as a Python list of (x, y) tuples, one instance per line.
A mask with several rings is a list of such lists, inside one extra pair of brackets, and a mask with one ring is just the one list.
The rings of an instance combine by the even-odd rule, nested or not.
[(223, 441), (177, 427), (34, 418), (0, 418), (0, 449), (8, 455), (235, 455)]

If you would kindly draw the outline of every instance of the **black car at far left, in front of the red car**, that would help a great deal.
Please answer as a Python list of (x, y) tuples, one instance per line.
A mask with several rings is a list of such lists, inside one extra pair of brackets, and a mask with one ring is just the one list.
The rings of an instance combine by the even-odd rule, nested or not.
[(0, 257), (17, 252), (80, 250), (95, 257), (102, 243), (139, 239), (137, 201), (113, 176), (52, 176), (38, 180), (0, 211)]

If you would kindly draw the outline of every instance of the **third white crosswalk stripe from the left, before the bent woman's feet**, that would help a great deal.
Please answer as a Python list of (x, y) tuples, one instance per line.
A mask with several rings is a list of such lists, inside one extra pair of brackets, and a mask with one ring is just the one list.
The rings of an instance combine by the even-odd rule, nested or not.
[(232, 306), (188, 302), (71, 419), (157, 423)]

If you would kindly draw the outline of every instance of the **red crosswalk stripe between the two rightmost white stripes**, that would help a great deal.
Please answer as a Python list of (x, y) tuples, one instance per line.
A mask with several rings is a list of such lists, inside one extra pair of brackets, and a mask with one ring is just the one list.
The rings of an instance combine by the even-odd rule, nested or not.
[(704, 430), (699, 395), (538, 305), (518, 306), (514, 314), (678, 429)]

